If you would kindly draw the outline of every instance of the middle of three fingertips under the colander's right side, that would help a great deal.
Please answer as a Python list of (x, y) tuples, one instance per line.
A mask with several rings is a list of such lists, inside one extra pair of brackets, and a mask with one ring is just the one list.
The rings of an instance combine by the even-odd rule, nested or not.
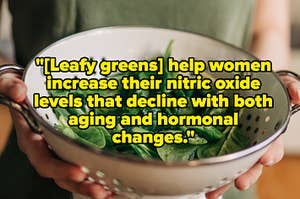
[(241, 175), (235, 180), (235, 186), (239, 190), (246, 190), (251, 185), (253, 185), (261, 175), (263, 170), (263, 165), (261, 164), (255, 164), (253, 167), (251, 167), (246, 173)]

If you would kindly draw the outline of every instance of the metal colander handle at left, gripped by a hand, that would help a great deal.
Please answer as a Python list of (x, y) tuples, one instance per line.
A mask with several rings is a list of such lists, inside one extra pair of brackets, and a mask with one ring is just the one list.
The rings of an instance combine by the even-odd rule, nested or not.
[[(13, 74), (22, 76), (23, 72), (24, 72), (24, 69), (18, 65), (0, 66), (0, 76), (4, 75), (4, 74), (8, 74), (8, 73), (13, 73)], [(1, 94), (0, 94), (0, 104), (4, 104), (4, 105), (18, 111), (24, 117), (27, 124), (33, 131), (35, 131), (36, 133), (41, 133), (41, 128), (39, 127), (37, 122), (33, 119), (33, 116), (30, 113), (29, 108), (26, 104), (20, 104), (20, 103), (14, 102), (9, 97), (1, 95)]]

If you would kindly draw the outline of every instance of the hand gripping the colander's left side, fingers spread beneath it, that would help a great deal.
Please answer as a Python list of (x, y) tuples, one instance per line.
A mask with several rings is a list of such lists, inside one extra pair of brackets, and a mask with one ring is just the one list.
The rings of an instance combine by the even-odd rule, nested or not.
[[(23, 102), (26, 86), (16, 75), (0, 76), (0, 94), (16, 102)], [(11, 110), (20, 149), (27, 155), (36, 171), (45, 178), (52, 178), (63, 189), (96, 199), (108, 198), (111, 193), (102, 186), (86, 180), (81, 168), (57, 159), (48, 149), (41, 135), (31, 131), (23, 117)]]

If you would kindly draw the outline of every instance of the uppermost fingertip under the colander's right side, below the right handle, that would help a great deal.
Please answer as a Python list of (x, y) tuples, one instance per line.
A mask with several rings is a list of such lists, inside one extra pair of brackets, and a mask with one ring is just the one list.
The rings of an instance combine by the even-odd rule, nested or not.
[(273, 166), (278, 163), (284, 155), (284, 143), (281, 137), (275, 140), (268, 151), (260, 159), (260, 163), (264, 166)]

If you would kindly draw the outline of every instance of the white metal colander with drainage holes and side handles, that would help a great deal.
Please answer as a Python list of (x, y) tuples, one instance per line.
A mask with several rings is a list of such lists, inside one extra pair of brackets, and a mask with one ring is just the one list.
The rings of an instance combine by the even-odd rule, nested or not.
[[(176, 30), (149, 27), (111, 27), (82, 32), (62, 39), (39, 53), (38, 57), (56, 57), (60, 60), (93, 57), (106, 59), (147, 59), (164, 52), (174, 40), (172, 56), (177, 59), (195, 57), (201, 60), (253, 60), (255, 57), (231, 45), (214, 39)], [(22, 73), (18, 66), (4, 66), (0, 73)], [(291, 72), (282, 72), (293, 75)], [(83, 77), (83, 74), (65, 73), (54, 77)], [(215, 77), (232, 77), (233, 73), (216, 73)], [(166, 163), (146, 161), (123, 154), (99, 150), (74, 141), (55, 130), (57, 118), (52, 109), (34, 109), (34, 93), (48, 96), (41, 67), (30, 62), (23, 74), (28, 87), (26, 105), (16, 104), (5, 97), (0, 102), (23, 114), (30, 126), (45, 137), (51, 149), (63, 160), (89, 170), (89, 180), (105, 189), (128, 198), (148, 195), (184, 195), (212, 191), (230, 183), (247, 171), (265, 153), (268, 146), (287, 128), (290, 116), (299, 110), (291, 107), (289, 95), (275, 73), (253, 73), (263, 85), (260, 93), (274, 99), (272, 109), (245, 109), (239, 128), (251, 140), (252, 146), (219, 157), (189, 162)], [(295, 78), (299, 78), (294, 74)], [(243, 92), (254, 95), (255, 92)]]

